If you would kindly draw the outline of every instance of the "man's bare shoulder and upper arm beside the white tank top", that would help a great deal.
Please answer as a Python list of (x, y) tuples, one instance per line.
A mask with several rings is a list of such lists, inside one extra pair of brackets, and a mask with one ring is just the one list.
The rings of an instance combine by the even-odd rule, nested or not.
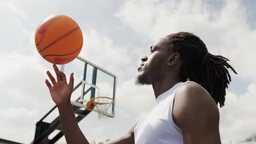
[(220, 143), (217, 104), (197, 83), (186, 82), (177, 89), (172, 114), (184, 141)]

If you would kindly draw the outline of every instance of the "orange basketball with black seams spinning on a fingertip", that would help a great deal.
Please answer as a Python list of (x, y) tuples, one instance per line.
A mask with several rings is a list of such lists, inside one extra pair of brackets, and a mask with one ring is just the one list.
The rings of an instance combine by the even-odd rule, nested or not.
[(73, 61), (83, 46), (83, 34), (78, 24), (66, 15), (44, 19), (34, 37), (37, 50), (48, 62), (66, 64)]

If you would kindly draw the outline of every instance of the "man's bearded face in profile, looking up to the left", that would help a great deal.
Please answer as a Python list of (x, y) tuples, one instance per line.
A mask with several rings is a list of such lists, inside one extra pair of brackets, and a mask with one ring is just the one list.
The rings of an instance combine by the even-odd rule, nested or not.
[(150, 46), (150, 53), (141, 58), (141, 65), (138, 68), (136, 83), (138, 85), (150, 85), (154, 81), (161, 79), (167, 67), (165, 60), (167, 47), (161, 40), (158, 44)]

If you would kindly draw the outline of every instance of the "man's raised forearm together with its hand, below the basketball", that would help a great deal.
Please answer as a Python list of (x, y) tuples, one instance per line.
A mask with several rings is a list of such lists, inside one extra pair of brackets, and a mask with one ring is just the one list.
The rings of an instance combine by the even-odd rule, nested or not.
[(67, 143), (89, 144), (88, 140), (78, 126), (77, 119), (75, 118), (70, 103), (70, 98), (74, 86), (74, 74), (72, 73), (70, 75), (69, 83), (67, 84), (66, 75), (62, 71), (59, 71), (55, 64), (53, 65), (53, 68), (57, 76), (57, 81), (54, 79), (53, 75), (47, 71), (46, 73), (53, 85), (51, 85), (48, 80), (45, 80), (45, 83), (49, 88), (51, 98), (58, 107), (61, 126), (65, 135), (65, 139)]

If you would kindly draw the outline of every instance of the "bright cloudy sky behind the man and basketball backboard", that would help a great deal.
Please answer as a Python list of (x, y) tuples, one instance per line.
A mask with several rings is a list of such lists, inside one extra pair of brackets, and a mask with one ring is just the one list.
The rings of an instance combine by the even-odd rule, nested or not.
[[(46, 70), (53, 68), (39, 55), (34, 32), (45, 17), (64, 14), (82, 29), (79, 56), (118, 77), (115, 118), (100, 121), (90, 113), (79, 123), (89, 141), (126, 134), (152, 109), (152, 87), (135, 85), (140, 58), (160, 38), (181, 31), (199, 36), (213, 55), (230, 59), (238, 75), (231, 74), (225, 106), (219, 108), (220, 137), (223, 143), (246, 139), (256, 132), (255, 6), (250, 0), (1, 0), (0, 138), (30, 143), (36, 122), (54, 106), (44, 83)], [(65, 143), (64, 137), (58, 143)]]

